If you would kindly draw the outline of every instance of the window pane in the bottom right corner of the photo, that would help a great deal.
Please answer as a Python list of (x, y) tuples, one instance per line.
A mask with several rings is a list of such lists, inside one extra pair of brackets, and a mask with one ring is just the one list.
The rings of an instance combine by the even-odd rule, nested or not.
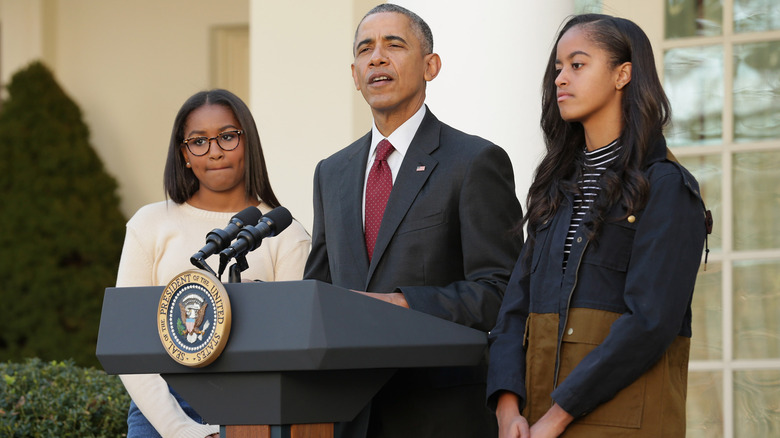
[(734, 373), (734, 410), (735, 437), (780, 436), (780, 371)]

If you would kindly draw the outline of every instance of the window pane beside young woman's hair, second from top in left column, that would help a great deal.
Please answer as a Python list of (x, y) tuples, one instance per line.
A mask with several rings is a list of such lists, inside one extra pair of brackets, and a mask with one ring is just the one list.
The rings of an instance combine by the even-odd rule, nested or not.
[(670, 146), (719, 143), (723, 135), (723, 47), (689, 47), (664, 54), (664, 89), (672, 104)]

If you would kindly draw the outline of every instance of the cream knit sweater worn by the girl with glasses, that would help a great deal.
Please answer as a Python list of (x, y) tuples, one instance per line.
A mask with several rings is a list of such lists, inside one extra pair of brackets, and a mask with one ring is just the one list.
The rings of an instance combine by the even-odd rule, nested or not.
[[(261, 203), (263, 213), (270, 207)], [(187, 203), (163, 201), (149, 204), (128, 221), (117, 287), (164, 286), (177, 274), (194, 269), (190, 257), (205, 244), (206, 234), (224, 228), (235, 213), (195, 208)], [(311, 249), (311, 237), (297, 221), (278, 236), (263, 240), (247, 254), (245, 280), (300, 280)], [(209, 265), (217, 272), (219, 257)], [(225, 273), (224, 275), (227, 275)], [(190, 419), (168, 391), (159, 374), (122, 375), (130, 397), (164, 438), (203, 438), (219, 432), (219, 426), (201, 425)]]

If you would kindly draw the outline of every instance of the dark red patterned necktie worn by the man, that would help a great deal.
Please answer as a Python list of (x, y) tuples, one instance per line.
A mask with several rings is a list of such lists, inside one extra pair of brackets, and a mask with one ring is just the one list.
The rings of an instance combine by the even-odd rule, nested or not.
[(385, 214), (387, 198), (393, 190), (393, 175), (387, 165), (387, 157), (393, 152), (393, 145), (382, 140), (376, 147), (376, 158), (366, 181), (366, 250), (368, 260), (374, 255), (376, 235)]

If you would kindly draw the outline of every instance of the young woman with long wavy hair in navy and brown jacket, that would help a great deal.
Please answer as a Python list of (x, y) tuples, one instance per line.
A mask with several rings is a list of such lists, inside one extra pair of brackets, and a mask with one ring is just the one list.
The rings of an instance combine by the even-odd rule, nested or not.
[(500, 436), (682, 437), (698, 184), (667, 158), (669, 102), (631, 21), (571, 18), (545, 72), (547, 154), (490, 333)]

